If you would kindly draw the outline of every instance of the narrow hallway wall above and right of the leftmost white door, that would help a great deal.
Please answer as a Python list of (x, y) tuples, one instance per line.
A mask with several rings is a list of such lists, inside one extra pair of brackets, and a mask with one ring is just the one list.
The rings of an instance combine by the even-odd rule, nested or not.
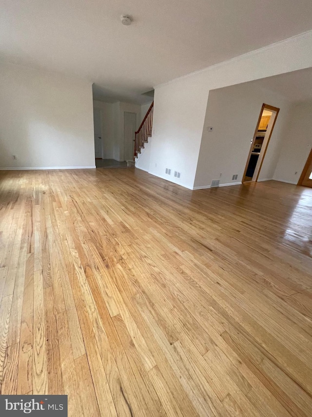
[(94, 100), (93, 106), (101, 111), (102, 142), (104, 159), (114, 159), (114, 105)]

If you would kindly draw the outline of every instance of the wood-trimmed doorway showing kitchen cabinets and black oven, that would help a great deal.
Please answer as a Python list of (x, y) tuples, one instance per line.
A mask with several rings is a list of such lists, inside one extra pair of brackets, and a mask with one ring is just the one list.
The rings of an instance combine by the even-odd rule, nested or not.
[(279, 109), (263, 104), (247, 158), (242, 182), (257, 181)]

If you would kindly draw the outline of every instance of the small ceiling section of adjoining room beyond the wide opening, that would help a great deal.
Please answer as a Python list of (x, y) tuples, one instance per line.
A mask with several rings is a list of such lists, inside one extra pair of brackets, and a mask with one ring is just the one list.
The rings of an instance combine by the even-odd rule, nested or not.
[(274, 75), (246, 84), (275, 91), (293, 103), (312, 101), (312, 68)]

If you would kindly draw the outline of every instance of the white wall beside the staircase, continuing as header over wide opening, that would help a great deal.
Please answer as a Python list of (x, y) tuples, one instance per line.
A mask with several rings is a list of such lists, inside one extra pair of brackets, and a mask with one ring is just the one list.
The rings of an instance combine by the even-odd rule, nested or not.
[(156, 86), (149, 172), (193, 188), (209, 90), (311, 66), (312, 31)]

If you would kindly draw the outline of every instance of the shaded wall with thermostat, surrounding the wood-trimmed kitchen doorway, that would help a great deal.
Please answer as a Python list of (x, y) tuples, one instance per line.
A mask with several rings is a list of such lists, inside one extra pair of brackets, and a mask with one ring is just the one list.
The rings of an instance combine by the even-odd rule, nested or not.
[(231, 184), (235, 174), (235, 183), (242, 180), (263, 103), (280, 109), (259, 175), (259, 180), (273, 178), (290, 103), (250, 82), (210, 91), (195, 187), (210, 186), (213, 179)]

